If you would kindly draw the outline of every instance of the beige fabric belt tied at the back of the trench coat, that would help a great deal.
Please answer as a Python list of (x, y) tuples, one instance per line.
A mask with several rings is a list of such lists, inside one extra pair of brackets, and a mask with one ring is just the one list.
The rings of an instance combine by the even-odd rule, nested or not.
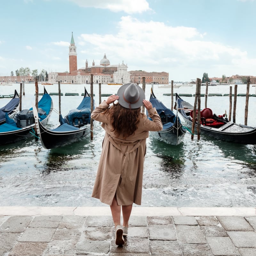
[[(108, 141), (115, 146), (117, 149), (119, 149), (123, 155), (124, 155), (124, 160), (122, 163), (122, 172), (121, 172), (121, 183), (120, 183), (120, 187), (124, 187), (124, 182), (126, 179), (126, 171), (127, 171), (127, 166), (128, 166), (128, 162), (129, 162), (129, 153), (131, 153), (132, 151), (134, 151), (135, 149), (137, 149), (140, 146), (140, 140), (137, 140), (136, 142), (133, 143), (122, 143), (120, 141), (115, 140), (113, 137), (109, 136), (108, 137)], [(125, 145), (125, 146), (133, 146), (131, 150), (124, 152), (119, 145)]]

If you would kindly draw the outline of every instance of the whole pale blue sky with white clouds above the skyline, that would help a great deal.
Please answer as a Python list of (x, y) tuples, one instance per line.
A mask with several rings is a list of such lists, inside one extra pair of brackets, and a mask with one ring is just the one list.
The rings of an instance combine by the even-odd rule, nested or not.
[[(4, 3), (4, 4), (3, 4)], [(0, 76), (127, 64), (169, 80), (256, 76), (256, 0), (2, 0)]]

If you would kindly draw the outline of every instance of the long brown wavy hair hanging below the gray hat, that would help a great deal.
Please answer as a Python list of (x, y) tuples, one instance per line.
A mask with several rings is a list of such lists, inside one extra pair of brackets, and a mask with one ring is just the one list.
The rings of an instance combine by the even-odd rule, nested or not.
[(134, 134), (138, 128), (140, 116), (143, 116), (140, 111), (141, 108), (129, 109), (122, 107), (119, 103), (113, 103), (113, 107), (105, 111), (110, 115), (110, 123), (113, 126), (111, 132), (115, 132), (117, 136), (122, 133), (124, 139)]

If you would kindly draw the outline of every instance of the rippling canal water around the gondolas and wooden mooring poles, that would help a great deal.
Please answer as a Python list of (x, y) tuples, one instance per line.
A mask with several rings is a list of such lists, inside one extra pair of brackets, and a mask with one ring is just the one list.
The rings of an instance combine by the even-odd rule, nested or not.
[[(61, 92), (79, 96), (61, 96), (61, 113), (66, 115), (82, 100), (84, 86), (61, 84)], [(101, 93), (116, 93), (120, 85), (101, 85)], [(162, 87), (162, 86), (161, 86)], [(58, 84), (45, 85), (48, 93), (58, 92)], [(149, 99), (151, 85), (146, 85)], [(0, 86), (0, 95), (20, 92), (20, 84)], [(178, 93), (195, 93), (195, 85), (174, 88)], [(238, 85), (246, 93), (246, 85)], [(39, 84), (39, 93), (43, 85)], [(201, 93), (205, 92), (202, 86)], [(94, 85), (95, 104), (99, 104), (99, 87)], [(154, 93), (166, 106), (171, 106), (171, 88), (154, 85)], [(208, 93), (229, 93), (229, 85), (209, 86)], [(233, 88), (234, 93), (234, 88)], [(255, 87), (250, 86), (255, 94)], [(35, 101), (35, 85), (25, 84), (23, 108)], [(59, 98), (51, 96), (55, 111), (48, 127), (58, 125)], [(182, 97), (192, 105), (194, 97)], [(39, 96), (40, 99), (40, 96)], [(102, 99), (105, 99), (102, 97)], [(204, 106), (204, 97), (201, 106)], [(10, 99), (0, 99), (4, 106)], [(217, 115), (229, 109), (229, 97), (208, 97), (207, 107)], [(236, 123), (244, 124), (245, 97), (237, 97)], [(256, 125), (256, 97), (249, 98), (248, 125)], [(180, 117), (182, 120), (182, 117)], [(97, 122), (93, 140), (87, 138), (72, 145), (47, 150), (34, 138), (0, 147), (0, 206), (106, 206), (92, 198), (92, 187), (100, 159), (104, 131)], [(255, 207), (256, 146), (216, 141), (201, 134), (191, 140), (186, 133), (178, 146), (147, 139), (144, 164), (142, 205), (162, 207)]]

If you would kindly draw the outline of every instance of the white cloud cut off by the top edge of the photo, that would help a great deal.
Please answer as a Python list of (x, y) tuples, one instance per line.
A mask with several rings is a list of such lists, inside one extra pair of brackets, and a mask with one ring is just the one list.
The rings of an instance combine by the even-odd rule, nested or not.
[(142, 13), (150, 11), (146, 0), (69, 0), (81, 7), (108, 9), (112, 12)]

